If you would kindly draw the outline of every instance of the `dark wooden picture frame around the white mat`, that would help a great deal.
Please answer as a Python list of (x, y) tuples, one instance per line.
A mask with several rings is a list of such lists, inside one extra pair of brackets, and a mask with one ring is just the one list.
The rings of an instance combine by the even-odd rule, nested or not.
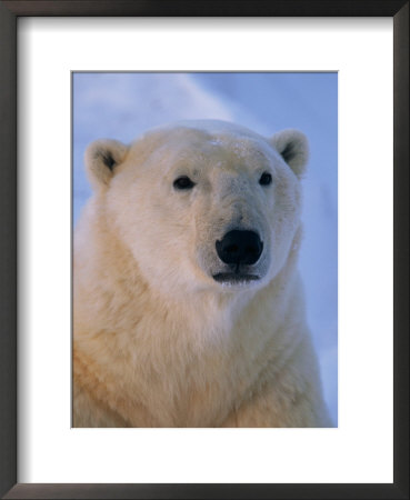
[[(27, 16), (392, 17), (394, 46), (393, 483), (17, 483), (17, 20)], [(21, 144), (19, 144), (21, 147)], [(2, 498), (409, 498), (409, 1), (11, 0), (0, 1), (0, 494)], [(374, 437), (377, 439), (377, 437)], [(58, 458), (56, 458), (58, 459)]]

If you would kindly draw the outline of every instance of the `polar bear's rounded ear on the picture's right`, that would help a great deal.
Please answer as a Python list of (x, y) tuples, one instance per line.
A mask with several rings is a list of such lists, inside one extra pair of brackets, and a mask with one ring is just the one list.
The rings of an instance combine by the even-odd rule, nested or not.
[(270, 143), (296, 176), (301, 177), (309, 158), (309, 144), (304, 133), (293, 129), (282, 130), (270, 139)]

